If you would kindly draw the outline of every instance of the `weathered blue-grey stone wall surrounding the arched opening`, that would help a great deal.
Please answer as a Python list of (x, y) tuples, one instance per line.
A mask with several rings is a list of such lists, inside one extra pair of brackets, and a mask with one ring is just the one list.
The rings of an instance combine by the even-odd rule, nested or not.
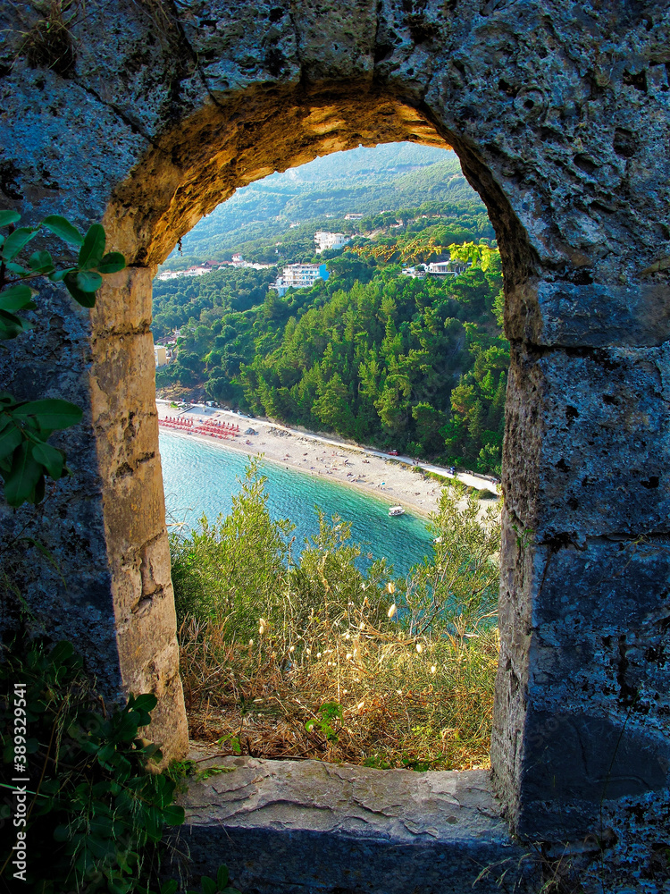
[(34, 335), (0, 360), (15, 392), (88, 408), (63, 437), (74, 477), (38, 519), (4, 510), (4, 536), (27, 525), (46, 539), (67, 586), (10, 545), (21, 591), (77, 637), (111, 694), (161, 694), (170, 753), (186, 728), (148, 328), (155, 265), (240, 185), (413, 139), (456, 149), (505, 273), (498, 793), (532, 839), (598, 835), (601, 804), (615, 837), (635, 816), (666, 828), (669, 10), (121, 0), (82, 7), (54, 62), (25, 43), (32, 7), (4, 4), (3, 205), (28, 222), (104, 218), (130, 261), (91, 315), (46, 291)]

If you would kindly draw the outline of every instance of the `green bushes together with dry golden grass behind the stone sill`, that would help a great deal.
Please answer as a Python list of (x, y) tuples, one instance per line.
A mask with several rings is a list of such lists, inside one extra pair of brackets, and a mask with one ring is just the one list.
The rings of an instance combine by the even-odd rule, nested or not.
[[(487, 765), (498, 659), (496, 511), (482, 519), (476, 499), (464, 503), (461, 487), (445, 489), (432, 519), (434, 555), (403, 580), (384, 561), (359, 569), (350, 526), (322, 513), (294, 559), (287, 523), (284, 539), (275, 537), (255, 466), (242, 497), (234, 525), (221, 519), (172, 542), (178, 603), (192, 607), (179, 632), (191, 734), (231, 754)], [(243, 558), (253, 547), (240, 540), (250, 519), (261, 519), (265, 532), (255, 566)], [(237, 539), (222, 547), (224, 531)], [(243, 577), (240, 562), (244, 588), (230, 586)]]

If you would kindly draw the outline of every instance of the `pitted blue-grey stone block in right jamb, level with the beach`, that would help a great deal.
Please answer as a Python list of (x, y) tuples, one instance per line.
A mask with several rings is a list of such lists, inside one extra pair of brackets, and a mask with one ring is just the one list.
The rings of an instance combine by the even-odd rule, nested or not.
[(507, 391), (507, 508), (537, 541), (665, 532), (670, 344), (515, 345)]

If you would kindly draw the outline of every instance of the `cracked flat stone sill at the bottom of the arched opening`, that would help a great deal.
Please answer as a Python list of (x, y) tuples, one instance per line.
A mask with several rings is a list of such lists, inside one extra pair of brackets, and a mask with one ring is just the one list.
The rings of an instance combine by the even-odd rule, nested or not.
[[(192, 753), (202, 758), (204, 752)], [(206, 754), (206, 752), (205, 752)], [(201, 761), (176, 852), (194, 878), (225, 863), (244, 894), (534, 891), (488, 771), (417, 773), (249, 757)]]

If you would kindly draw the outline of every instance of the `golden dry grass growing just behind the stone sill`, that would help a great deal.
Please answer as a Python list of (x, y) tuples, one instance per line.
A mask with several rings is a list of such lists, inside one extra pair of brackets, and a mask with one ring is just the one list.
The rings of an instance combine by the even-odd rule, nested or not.
[(399, 625), (373, 626), (365, 602), (329, 617), (334, 608), (324, 604), (299, 636), (259, 619), (247, 644), (213, 620), (184, 620), (191, 736), (220, 741), (222, 754), (487, 767), (498, 631), (409, 638)]

